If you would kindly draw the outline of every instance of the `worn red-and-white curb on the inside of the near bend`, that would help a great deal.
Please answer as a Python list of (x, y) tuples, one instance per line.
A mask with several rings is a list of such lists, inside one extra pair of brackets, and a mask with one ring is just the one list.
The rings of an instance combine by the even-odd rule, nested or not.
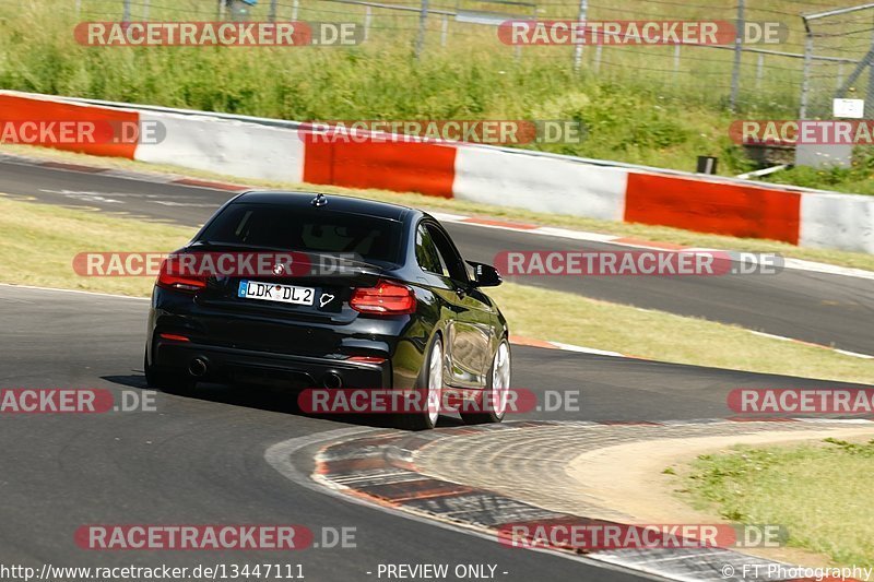
[[(365, 504), (406, 514), (414, 519), (434, 520), (462, 530), (485, 534), (500, 542), (501, 526), (530, 523), (532, 527), (576, 524), (622, 525), (603, 520), (592, 520), (546, 510), (531, 503), (495, 494), (489, 490), (439, 479), (418, 472), (414, 454), (436, 440), (447, 437), (476, 435), (505, 430), (524, 430), (547, 426), (568, 425), (648, 425), (713, 424), (744, 419), (713, 419), (690, 421), (647, 423), (587, 423), (587, 421), (513, 421), (499, 425), (459, 427), (427, 432), (390, 432), (356, 436), (322, 446), (316, 454), (311, 479), (331, 491)], [(806, 421), (780, 418), (775, 421)], [(767, 421), (757, 419), (756, 421)], [(836, 420), (829, 420), (836, 421)], [(837, 420), (840, 423), (841, 420)], [(871, 420), (847, 420), (849, 424)], [(270, 455), (268, 455), (270, 456)], [(275, 464), (274, 464), (275, 466)], [(626, 570), (661, 577), (666, 580), (700, 582), (744, 580), (742, 572), (758, 567), (780, 566), (783, 571), (798, 567), (775, 562), (725, 548), (635, 548), (586, 551), (579, 548), (538, 548), (541, 551), (566, 556), (584, 556), (597, 562), (618, 566)], [(768, 580), (768, 578), (764, 578)], [(778, 580), (778, 579), (771, 579)], [(780, 579), (786, 580), (786, 579)], [(805, 579), (790, 579), (805, 580)]]

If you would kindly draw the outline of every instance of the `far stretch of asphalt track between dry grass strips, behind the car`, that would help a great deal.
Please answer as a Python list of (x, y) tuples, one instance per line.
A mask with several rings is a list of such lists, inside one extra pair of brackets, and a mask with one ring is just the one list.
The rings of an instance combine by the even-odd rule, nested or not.
[[(0, 159), (0, 192), (39, 202), (88, 205), (178, 224), (202, 224), (233, 193), (150, 183)], [(617, 250), (622, 247), (447, 224), (466, 259), (493, 262), (505, 250)], [(528, 285), (637, 307), (735, 323), (807, 342), (874, 354), (874, 282), (787, 270), (722, 277), (518, 277)]]

